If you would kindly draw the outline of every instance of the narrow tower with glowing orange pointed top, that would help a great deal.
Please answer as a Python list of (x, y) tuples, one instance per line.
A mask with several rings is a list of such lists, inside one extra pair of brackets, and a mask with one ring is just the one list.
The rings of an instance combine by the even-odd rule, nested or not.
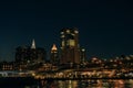
[(53, 44), (53, 46), (51, 48), (50, 62), (52, 64), (58, 64), (59, 63), (58, 48), (57, 48), (55, 44)]

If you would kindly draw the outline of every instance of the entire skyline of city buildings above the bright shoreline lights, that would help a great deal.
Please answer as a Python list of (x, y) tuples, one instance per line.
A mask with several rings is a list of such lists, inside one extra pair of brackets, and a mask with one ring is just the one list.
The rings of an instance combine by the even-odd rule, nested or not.
[(31, 46), (19, 46), (16, 48), (14, 62), (1, 62), (0, 70), (47, 72), (58, 70), (60, 68), (124, 70), (133, 67), (133, 55), (121, 56), (115, 59), (100, 59), (95, 57), (86, 59), (85, 50), (79, 44), (79, 31), (75, 28), (62, 29), (60, 38), (60, 50), (53, 44), (50, 52), (50, 59), (47, 59), (47, 51), (42, 47), (37, 47), (33, 40)]

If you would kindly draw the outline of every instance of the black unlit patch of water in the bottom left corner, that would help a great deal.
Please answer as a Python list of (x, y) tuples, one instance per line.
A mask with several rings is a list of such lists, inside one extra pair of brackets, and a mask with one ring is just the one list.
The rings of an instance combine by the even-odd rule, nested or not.
[(32, 77), (1, 77), (0, 88), (41, 88), (41, 84)]

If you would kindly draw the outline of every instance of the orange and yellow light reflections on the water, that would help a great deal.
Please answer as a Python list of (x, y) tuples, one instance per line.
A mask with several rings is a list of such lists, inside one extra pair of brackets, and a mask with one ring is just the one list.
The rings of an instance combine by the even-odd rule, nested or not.
[(133, 79), (42, 80), (42, 88), (133, 88)]

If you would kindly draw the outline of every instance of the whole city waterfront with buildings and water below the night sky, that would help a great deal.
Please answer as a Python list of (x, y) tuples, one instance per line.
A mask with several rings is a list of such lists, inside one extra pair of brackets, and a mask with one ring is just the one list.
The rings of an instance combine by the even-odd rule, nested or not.
[(53, 44), (50, 59), (33, 40), (16, 48), (14, 62), (0, 62), (0, 88), (132, 88), (133, 55), (88, 58), (76, 28), (60, 36), (61, 48)]

